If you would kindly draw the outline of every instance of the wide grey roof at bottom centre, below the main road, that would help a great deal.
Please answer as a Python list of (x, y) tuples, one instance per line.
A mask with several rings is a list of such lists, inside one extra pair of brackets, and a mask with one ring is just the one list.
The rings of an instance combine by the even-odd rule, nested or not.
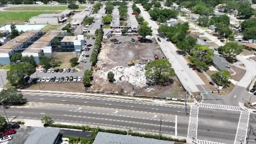
[(133, 137), (130, 135), (121, 135), (113, 133), (98, 132), (93, 144), (174, 144), (173, 141), (156, 140), (149, 138)]

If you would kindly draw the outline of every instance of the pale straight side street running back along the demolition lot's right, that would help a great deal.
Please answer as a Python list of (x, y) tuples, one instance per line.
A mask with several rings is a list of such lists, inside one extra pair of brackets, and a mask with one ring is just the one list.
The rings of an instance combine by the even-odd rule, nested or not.
[[(157, 38), (158, 36), (158, 25), (155, 21), (150, 19), (150, 15), (144, 11), (141, 5), (137, 5), (140, 8), (142, 17), (149, 22), (149, 26), (153, 29), (153, 36)], [(166, 39), (161, 39), (162, 42), (158, 42), (161, 47), (165, 57), (172, 64), (175, 74), (180, 79), (182, 85), (186, 90), (190, 92), (198, 92), (198, 85), (205, 85), (202, 79), (196, 74), (194, 70), (188, 67), (187, 61), (182, 57), (182, 55), (177, 54), (177, 48), (171, 43), (167, 42)], [(201, 86), (200, 86), (201, 87)]]

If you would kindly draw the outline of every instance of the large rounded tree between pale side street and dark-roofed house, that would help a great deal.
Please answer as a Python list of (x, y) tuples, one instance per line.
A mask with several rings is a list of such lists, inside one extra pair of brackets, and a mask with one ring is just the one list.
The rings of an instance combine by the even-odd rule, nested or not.
[(196, 67), (202, 70), (207, 70), (212, 62), (213, 50), (204, 45), (195, 45), (194, 49), (190, 51), (191, 57), (188, 59)]

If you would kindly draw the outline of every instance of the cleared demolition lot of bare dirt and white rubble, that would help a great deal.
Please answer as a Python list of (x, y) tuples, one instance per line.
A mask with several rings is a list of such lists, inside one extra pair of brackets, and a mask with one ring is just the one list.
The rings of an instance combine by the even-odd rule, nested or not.
[[(102, 42), (97, 66), (94, 67), (92, 86), (88, 91), (162, 98), (184, 98), (177, 77), (169, 86), (147, 85), (145, 66), (148, 61), (165, 59), (155, 39), (141, 43), (138, 36), (110, 37)], [(114, 82), (108, 82), (109, 71)]]

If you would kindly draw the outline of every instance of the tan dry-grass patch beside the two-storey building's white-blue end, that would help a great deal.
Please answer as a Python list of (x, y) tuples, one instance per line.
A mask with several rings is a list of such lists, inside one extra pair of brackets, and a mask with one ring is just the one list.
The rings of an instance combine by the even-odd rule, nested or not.
[(76, 57), (75, 52), (54, 52), (54, 55), (60, 61), (60, 66), (57, 68), (71, 68), (69, 60)]

